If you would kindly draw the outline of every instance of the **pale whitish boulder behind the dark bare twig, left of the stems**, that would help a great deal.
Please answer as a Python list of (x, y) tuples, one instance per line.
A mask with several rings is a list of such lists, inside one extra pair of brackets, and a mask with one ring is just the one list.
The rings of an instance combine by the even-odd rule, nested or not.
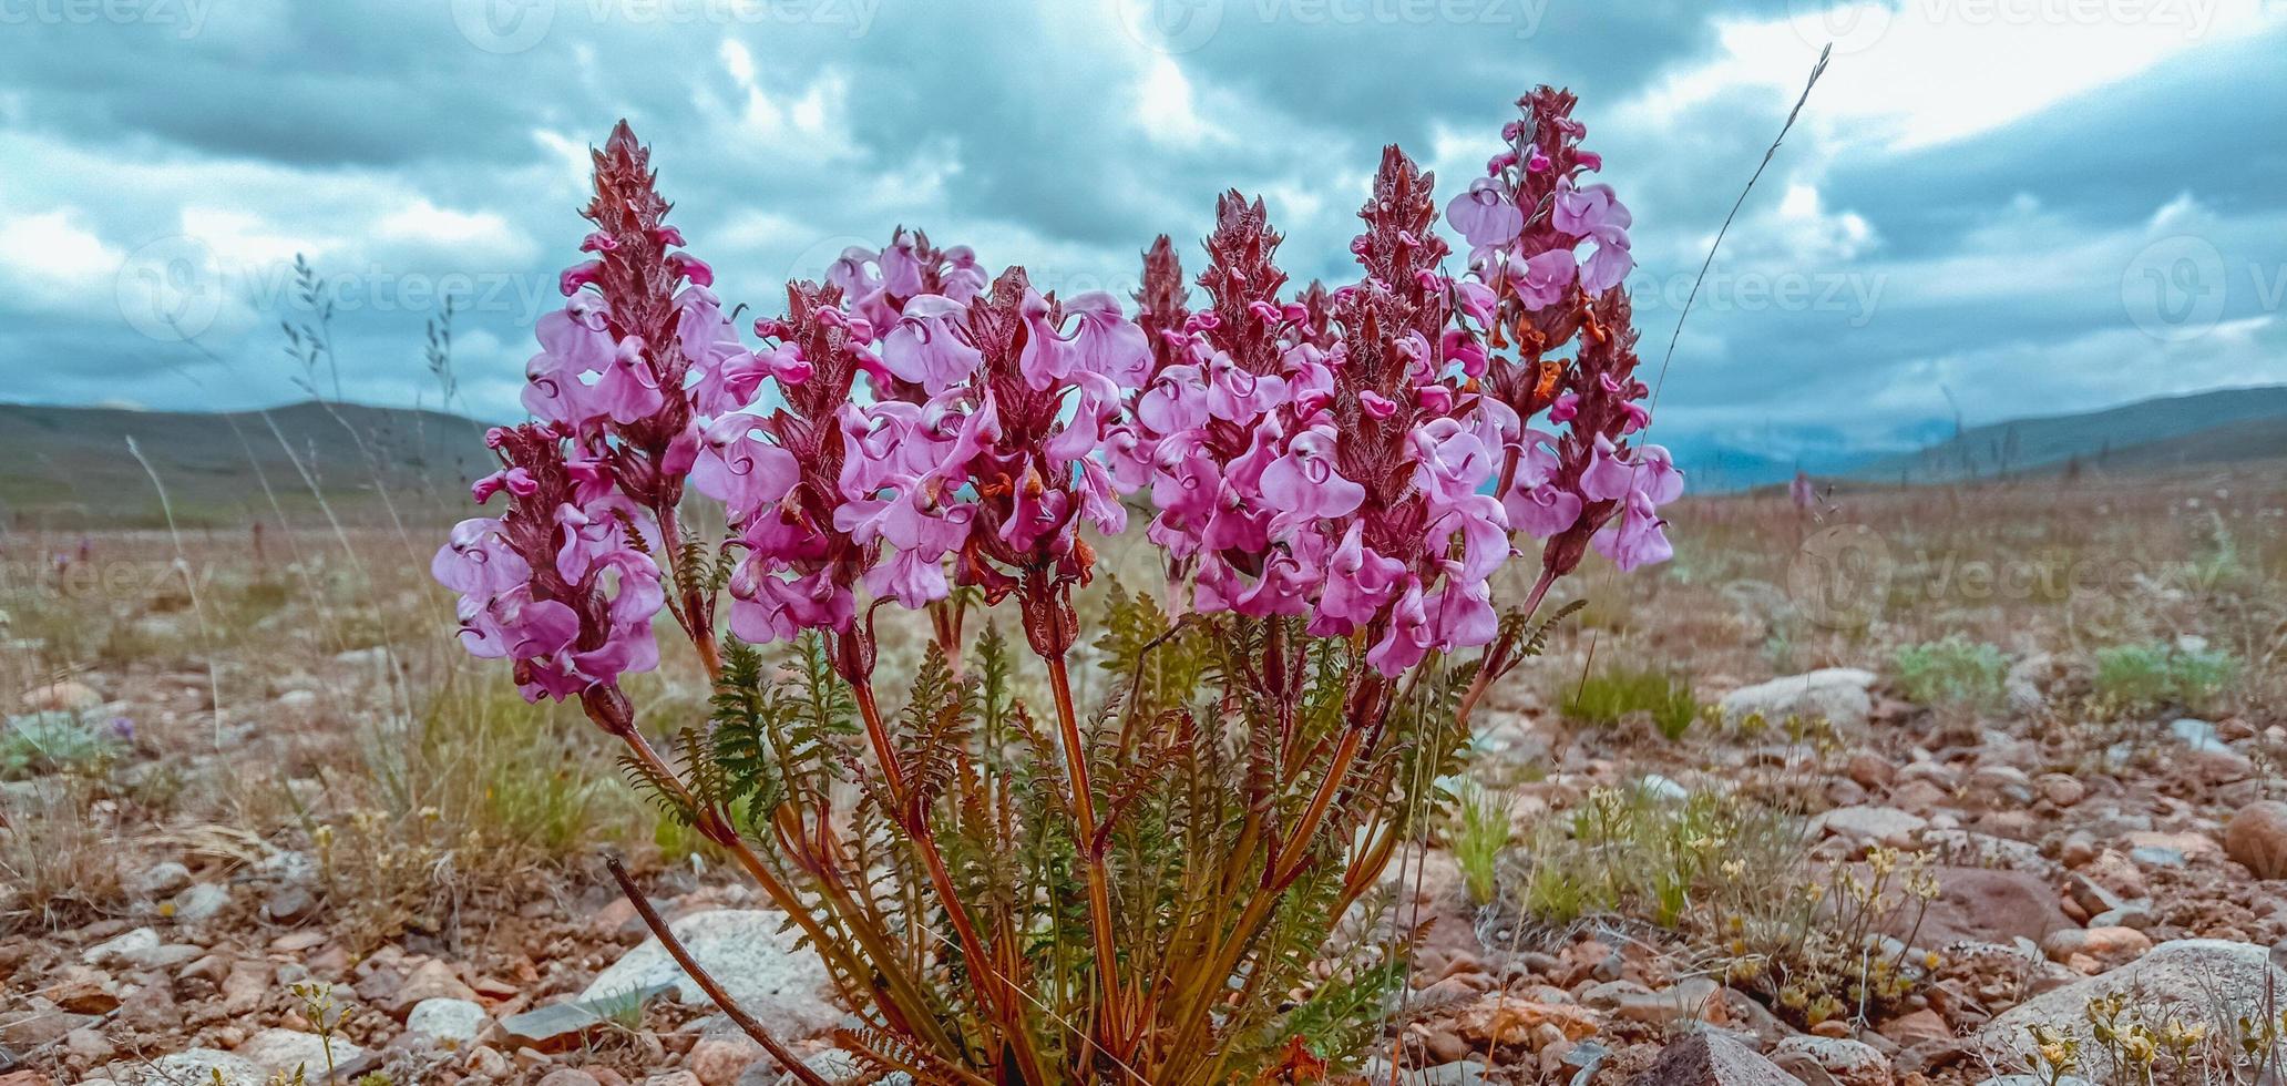
[[(714, 910), (693, 912), (668, 931), (746, 1013), (771, 1022), (782, 1038), (823, 1033), (842, 1022), (842, 1011), (830, 999), (826, 963), (810, 949), (796, 949), (784, 924), (782, 912)], [(675, 997), (686, 1004), (707, 1001), (707, 992), (684, 976), (656, 937), (643, 940), (597, 974), (581, 1001), (624, 997), (661, 983), (672, 983)]]

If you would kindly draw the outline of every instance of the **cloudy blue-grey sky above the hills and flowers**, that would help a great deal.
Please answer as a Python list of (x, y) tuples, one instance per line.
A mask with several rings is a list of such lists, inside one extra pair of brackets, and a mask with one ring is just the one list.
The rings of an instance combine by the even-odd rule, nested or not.
[[(0, 400), (510, 418), (627, 117), (725, 297), (894, 224), (1130, 290), (1262, 194), (1345, 277), (1377, 149), (1452, 192), (1535, 82), (1635, 210), (1658, 430), (1772, 457), (2287, 382), (2287, 0), (0, 0)], [(320, 377), (332, 393), (332, 375)]]

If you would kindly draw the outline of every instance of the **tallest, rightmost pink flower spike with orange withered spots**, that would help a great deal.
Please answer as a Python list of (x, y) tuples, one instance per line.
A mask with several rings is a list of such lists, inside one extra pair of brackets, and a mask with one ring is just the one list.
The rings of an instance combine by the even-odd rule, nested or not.
[(1603, 158), (1580, 149), (1587, 126), (1571, 117), (1576, 101), (1551, 87), (1519, 98), (1523, 117), (1503, 128), (1509, 146), (1445, 206), (1471, 242), (1477, 284), (1496, 300), (1489, 343), (1516, 350), (1491, 361), (1487, 389), (1519, 418), (1546, 409), (1564, 428), (1525, 430), (1500, 485), (1509, 526), (1548, 540), (1541, 562), (1557, 576), (1585, 546), (1621, 569), (1665, 560), (1658, 508), (1683, 494), (1665, 448), (1628, 441), (1651, 423), (1637, 402), (1649, 389), (1635, 377), (1635, 327), (1619, 290), (1633, 267), (1631, 217), (1610, 185), (1583, 183)]

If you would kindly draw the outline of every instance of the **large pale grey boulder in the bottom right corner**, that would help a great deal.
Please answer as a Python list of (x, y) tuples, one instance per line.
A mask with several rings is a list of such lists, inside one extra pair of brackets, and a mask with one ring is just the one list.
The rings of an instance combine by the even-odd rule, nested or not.
[(2042, 992), (2003, 1011), (1976, 1033), (1978, 1047), (1997, 1059), (2026, 1061), (2033, 1052), (2033, 1027), (2090, 1045), (2090, 999), (2131, 995), (2136, 1011), (2161, 1022), (2168, 1015), (2184, 1022), (2237, 1022), (2264, 1015), (2264, 992), (2287, 990), (2287, 969), (2271, 963), (2271, 951), (2253, 942), (2175, 940), (2120, 969)]

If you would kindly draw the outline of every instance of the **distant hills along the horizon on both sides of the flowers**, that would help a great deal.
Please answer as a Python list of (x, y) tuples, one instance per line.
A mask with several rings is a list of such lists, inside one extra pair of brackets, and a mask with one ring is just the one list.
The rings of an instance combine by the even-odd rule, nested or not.
[[(176, 521), (190, 526), (279, 512), (306, 524), (322, 517), (320, 498), (336, 517), (370, 524), (387, 514), (384, 496), (400, 517), (464, 517), (467, 485), (494, 466), (487, 425), (441, 412), (327, 402), (236, 414), (0, 405), (0, 524), (165, 524), (151, 473), (167, 487)], [(2287, 460), (2287, 386), (1976, 425), (1903, 455), (1855, 453), (1839, 441), (1807, 455), (1688, 437), (1670, 446), (1702, 494), (1784, 482), (1798, 466), (1823, 480), (1917, 485), (2072, 466), (2131, 473)]]

